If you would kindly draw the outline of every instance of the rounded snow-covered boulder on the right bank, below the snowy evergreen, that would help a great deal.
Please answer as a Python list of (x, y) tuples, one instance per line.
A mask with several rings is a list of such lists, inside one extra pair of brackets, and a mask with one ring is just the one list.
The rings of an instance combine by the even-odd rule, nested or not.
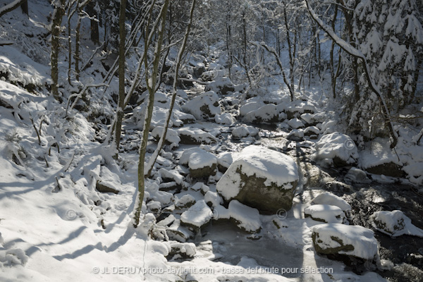
[(342, 167), (355, 164), (358, 152), (350, 136), (336, 132), (320, 138), (316, 143), (314, 158), (317, 160), (331, 159), (334, 166)]

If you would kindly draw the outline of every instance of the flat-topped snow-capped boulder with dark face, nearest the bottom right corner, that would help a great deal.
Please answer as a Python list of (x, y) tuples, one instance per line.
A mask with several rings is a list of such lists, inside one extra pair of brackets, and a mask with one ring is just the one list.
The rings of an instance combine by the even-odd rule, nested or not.
[(312, 240), (316, 252), (325, 255), (348, 255), (373, 261), (378, 253), (373, 231), (362, 226), (319, 224), (312, 228)]

